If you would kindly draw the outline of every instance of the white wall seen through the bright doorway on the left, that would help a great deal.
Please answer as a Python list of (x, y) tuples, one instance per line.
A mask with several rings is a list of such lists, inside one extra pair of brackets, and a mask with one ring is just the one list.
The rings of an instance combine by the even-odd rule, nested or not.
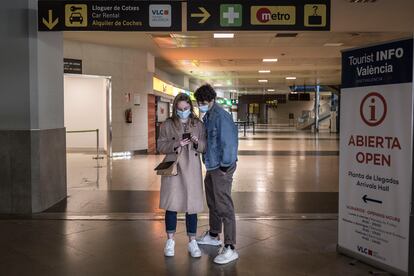
[[(65, 76), (66, 130), (99, 129), (99, 148), (107, 150), (106, 80), (84, 76)], [(96, 148), (96, 133), (68, 133), (68, 149)]]

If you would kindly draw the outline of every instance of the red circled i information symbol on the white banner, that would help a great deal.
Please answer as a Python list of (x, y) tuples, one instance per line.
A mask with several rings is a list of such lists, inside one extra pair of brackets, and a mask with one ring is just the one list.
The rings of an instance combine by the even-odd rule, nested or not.
[(365, 124), (371, 127), (378, 126), (387, 116), (387, 102), (380, 93), (371, 92), (362, 99), (359, 112)]

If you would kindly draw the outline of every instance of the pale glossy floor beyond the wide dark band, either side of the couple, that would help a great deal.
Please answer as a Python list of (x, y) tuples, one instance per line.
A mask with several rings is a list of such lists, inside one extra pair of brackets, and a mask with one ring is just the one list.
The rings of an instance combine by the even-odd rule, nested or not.
[[(337, 192), (339, 141), (335, 137), (318, 142), (295, 140), (303, 135), (291, 134), (293, 140), (287, 141), (241, 140), (233, 190)], [(153, 168), (161, 160), (160, 155), (105, 158), (97, 168), (93, 155), (70, 153), (69, 194), (78, 190), (159, 191), (160, 177)]]

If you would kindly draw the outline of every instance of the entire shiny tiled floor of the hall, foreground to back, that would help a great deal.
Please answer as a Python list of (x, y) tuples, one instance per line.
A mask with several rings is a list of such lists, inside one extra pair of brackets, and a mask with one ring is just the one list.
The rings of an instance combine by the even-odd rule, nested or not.
[(162, 156), (97, 164), (68, 154), (67, 199), (31, 218), (0, 220), (0, 275), (385, 275), (336, 252), (338, 143), (334, 134), (263, 128), (241, 137), (233, 185), (240, 259), (224, 266), (213, 264), (215, 247), (188, 255), (182, 220), (176, 256), (163, 256), (153, 171)]

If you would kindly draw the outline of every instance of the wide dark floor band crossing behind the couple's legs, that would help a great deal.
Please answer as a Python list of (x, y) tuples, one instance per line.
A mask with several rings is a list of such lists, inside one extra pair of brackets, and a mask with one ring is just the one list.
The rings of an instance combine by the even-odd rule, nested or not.
[[(270, 193), (233, 192), (235, 209), (240, 216), (298, 217), (324, 214), (336, 217), (338, 211), (337, 193)], [(158, 208), (158, 191), (88, 191), (82, 190), (48, 209), (44, 214), (64, 216), (92, 216), (117, 214), (163, 214)], [(205, 204), (204, 213), (207, 213)], [(39, 215), (39, 216), (41, 216)]]

